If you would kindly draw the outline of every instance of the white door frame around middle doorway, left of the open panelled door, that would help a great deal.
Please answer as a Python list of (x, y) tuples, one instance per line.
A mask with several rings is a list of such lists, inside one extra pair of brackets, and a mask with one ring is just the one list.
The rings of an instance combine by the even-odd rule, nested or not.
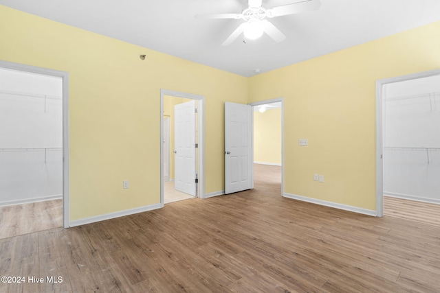
[(205, 97), (192, 93), (180, 91), (160, 90), (160, 206), (164, 207), (164, 96), (184, 97), (185, 99), (195, 99), (199, 101), (199, 156), (198, 156), (198, 186), (197, 196), (205, 198)]

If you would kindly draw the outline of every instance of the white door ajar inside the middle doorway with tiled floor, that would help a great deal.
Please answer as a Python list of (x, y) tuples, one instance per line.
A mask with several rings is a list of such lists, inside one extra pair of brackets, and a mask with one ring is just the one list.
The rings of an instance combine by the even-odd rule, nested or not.
[(196, 196), (195, 100), (174, 106), (175, 189)]

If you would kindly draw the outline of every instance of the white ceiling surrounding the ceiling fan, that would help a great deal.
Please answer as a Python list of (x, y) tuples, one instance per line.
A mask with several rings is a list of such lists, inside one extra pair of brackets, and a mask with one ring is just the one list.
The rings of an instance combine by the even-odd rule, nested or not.
[[(263, 7), (292, 2), (263, 0)], [(223, 47), (241, 21), (195, 20), (195, 14), (239, 13), (248, 0), (0, 0), (1, 5), (243, 76), (440, 21), (440, 0), (321, 3), (318, 11), (270, 19), (287, 36), (281, 43), (263, 35)]]

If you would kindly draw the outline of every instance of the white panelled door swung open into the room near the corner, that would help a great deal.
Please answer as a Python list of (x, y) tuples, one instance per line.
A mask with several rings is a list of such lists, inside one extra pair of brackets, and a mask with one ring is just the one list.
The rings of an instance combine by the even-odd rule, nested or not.
[(252, 188), (252, 107), (225, 102), (225, 194)]

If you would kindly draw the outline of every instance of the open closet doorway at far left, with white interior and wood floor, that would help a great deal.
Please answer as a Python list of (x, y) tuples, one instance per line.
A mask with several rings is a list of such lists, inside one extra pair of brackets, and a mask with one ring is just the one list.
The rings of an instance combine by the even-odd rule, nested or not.
[(0, 237), (69, 225), (66, 102), (67, 73), (0, 62)]

